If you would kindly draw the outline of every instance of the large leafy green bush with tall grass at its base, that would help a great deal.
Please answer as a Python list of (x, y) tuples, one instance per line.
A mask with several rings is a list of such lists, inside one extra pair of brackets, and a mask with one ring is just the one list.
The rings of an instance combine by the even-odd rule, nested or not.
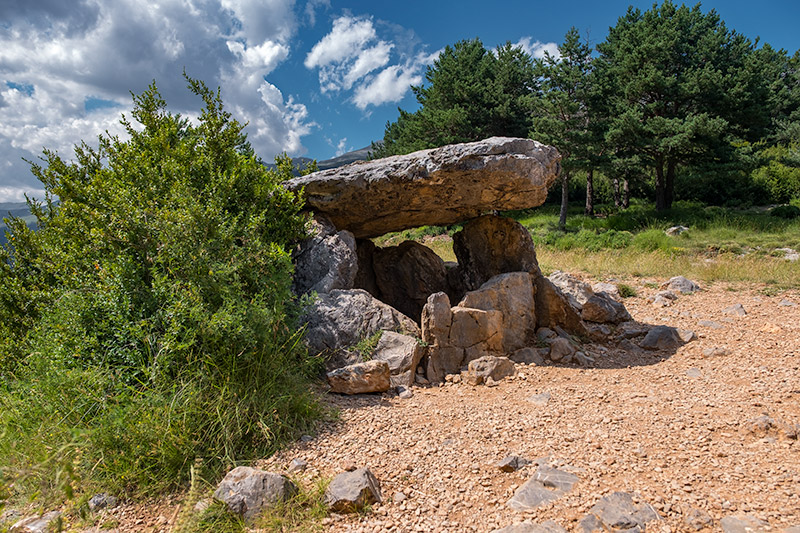
[(0, 256), (0, 465), (20, 490), (55, 495), (54, 472), (172, 487), (196, 459), (213, 475), (319, 414), (290, 292), (302, 202), (219, 92), (189, 85), (197, 124), (152, 85), (127, 140), (32, 165), (39, 229), (12, 221)]

